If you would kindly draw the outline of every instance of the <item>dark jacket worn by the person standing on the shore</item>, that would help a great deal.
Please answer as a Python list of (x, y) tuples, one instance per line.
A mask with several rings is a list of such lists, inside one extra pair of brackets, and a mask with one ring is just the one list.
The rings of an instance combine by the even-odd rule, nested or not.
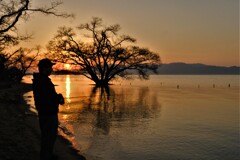
[(33, 95), (39, 115), (56, 115), (63, 97), (57, 94), (51, 79), (40, 73), (33, 74)]

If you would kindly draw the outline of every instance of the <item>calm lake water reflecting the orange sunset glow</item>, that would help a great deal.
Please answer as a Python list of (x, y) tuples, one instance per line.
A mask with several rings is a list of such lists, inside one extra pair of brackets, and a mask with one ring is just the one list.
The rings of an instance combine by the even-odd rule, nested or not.
[(51, 79), (65, 97), (66, 137), (88, 160), (240, 159), (239, 76), (159, 75), (109, 90), (83, 76)]

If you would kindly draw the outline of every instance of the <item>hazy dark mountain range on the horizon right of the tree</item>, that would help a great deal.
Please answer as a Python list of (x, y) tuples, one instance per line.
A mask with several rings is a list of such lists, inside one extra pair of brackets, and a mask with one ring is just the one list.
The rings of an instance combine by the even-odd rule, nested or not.
[(158, 68), (158, 74), (220, 74), (239, 75), (240, 67), (223, 67), (205, 64), (169, 63)]

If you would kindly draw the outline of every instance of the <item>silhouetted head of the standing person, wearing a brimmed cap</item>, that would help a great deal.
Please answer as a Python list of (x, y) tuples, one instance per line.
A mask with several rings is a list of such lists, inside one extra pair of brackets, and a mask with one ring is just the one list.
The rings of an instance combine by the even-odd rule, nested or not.
[(38, 63), (38, 70), (41, 74), (49, 76), (52, 73), (52, 66), (55, 63), (51, 62), (48, 58), (42, 59)]

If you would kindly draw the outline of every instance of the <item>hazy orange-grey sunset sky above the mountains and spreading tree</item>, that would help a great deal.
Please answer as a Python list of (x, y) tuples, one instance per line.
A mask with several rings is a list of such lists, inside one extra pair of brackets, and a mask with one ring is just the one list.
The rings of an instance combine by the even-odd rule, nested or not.
[[(34, 33), (28, 46), (47, 42), (59, 26), (77, 26), (100, 17), (120, 24), (122, 34), (159, 53), (163, 63), (239, 66), (239, 0), (63, 0), (59, 8), (74, 20), (34, 14), (21, 23)], [(34, 0), (33, 6), (49, 4)]]

